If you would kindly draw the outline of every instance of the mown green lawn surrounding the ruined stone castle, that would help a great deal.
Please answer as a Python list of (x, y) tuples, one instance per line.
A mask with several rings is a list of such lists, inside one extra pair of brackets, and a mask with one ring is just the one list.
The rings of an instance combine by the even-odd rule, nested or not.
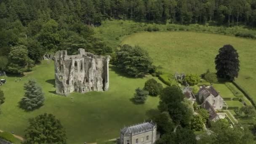
[[(1, 106), (0, 129), (13, 131), (24, 136), (28, 119), (43, 113), (52, 113), (61, 120), (66, 129), (68, 144), (105, 141), (119, 137), (124, 125), (139, 123), (147, 119), (146, 112), (156, 108), (158, 97), (149, 97), (145, 104), (133, 104), (131, 98), (137, 87), (152, 76), (143, 79), (128, 78), (115, 67), (109, 68), (109, 91), (72, 93), (69, 97), (54, 94), (54, 64), (43, 61), (32, 72), (21, 77), (5, 77), (7, 83), (1, 89), (5, 93), (5, 103)], [(0, 77), (3, 78), (3, 77)], [(23, 85), (29, 78), (37, 80), (45, 93), (45, 104), (33, 112), (20, 109), (18, 102), (24, 95)], [(159, 81), (156, 78), (157, 81)], [(73, 97), (73, 99), (70, 99)], [(72, 102), (74, 101), (74, 102)]]

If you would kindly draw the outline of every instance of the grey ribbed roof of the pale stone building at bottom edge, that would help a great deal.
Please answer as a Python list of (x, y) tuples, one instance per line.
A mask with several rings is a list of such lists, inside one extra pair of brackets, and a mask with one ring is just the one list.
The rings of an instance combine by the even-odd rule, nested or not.
[(154, 124), (152, 121), (150, 123), (144, 122), (138, 125), (132, 125), (129, 127), (125, 127), (121, 130), (121, 133), (124, 134), (125, 136), (130, 136), (131, 133), (133, 135), (144, 133), (146, 131), (152, 130), (155, 128), (156, 124)]

